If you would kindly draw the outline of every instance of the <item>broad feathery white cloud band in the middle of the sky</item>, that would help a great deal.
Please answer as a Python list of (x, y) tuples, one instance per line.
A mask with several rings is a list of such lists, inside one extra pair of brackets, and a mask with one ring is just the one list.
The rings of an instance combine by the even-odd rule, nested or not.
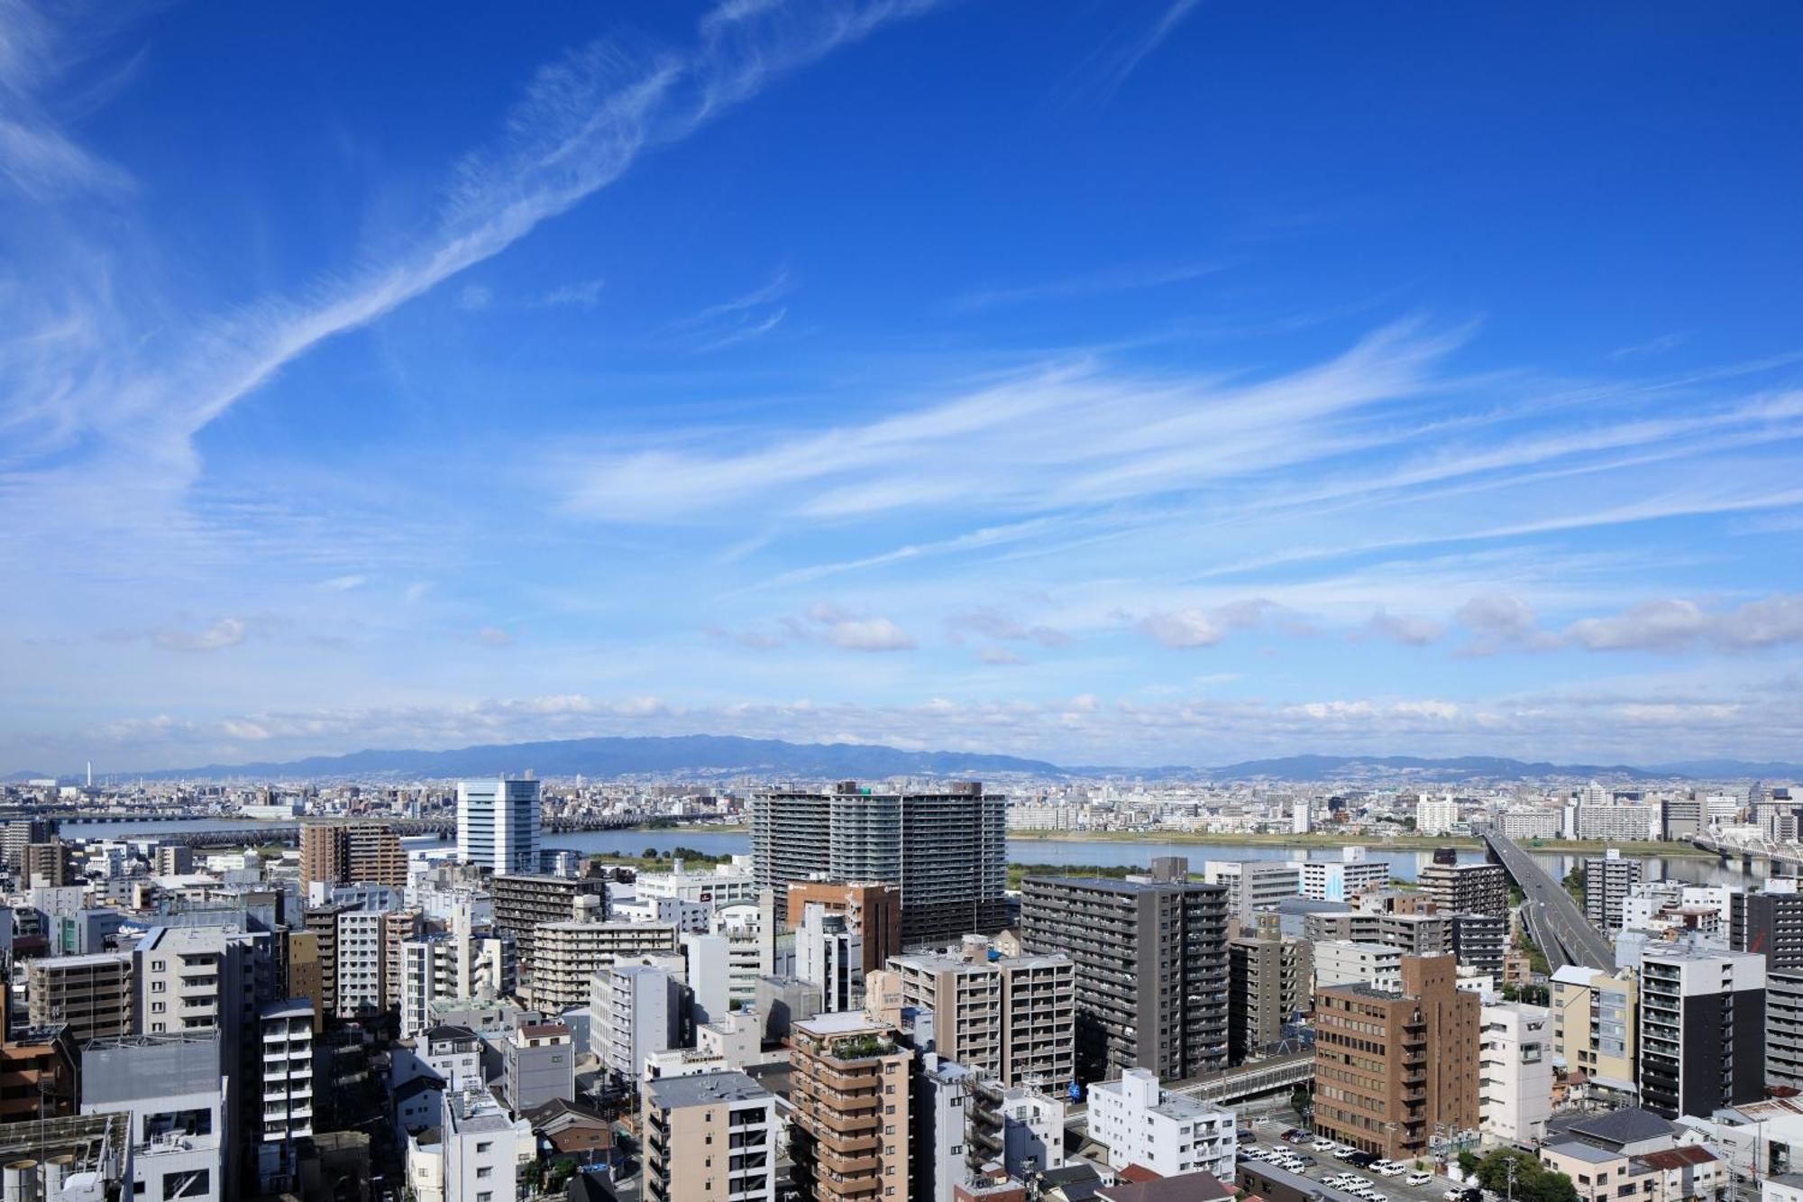
[[(1244, 384), (1111, 374), (1085, 361), (1051, 365), (892, 417), (773, 437), (752, 449), (568, 458), (561, 475), (573, 513), (647, 523), (754, 498), (777, 498), (784, 511), (817, 520), (1138, 500), (1401, 437), (1354, 433), (1332, 419), (1441, 386), (1430, 368), (1459, 341), (1397, 325), (1318, 366)], [(1026, 428), (1031, 439), (1020, 437)], [(921, 462), (936, 471), (921, 473)]]

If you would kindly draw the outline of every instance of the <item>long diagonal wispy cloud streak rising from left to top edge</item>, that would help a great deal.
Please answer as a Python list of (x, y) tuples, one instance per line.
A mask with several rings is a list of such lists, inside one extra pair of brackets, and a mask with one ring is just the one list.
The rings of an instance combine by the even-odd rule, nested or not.
[[(9, 4), (14, 20), (36, 16)], [(444, 208), (375, 265), (225, 312), (186, 337), (166, 334), (157, 347), (177, 348), (166, 357), (144, 357), (130, 330), (99, 365), (72, 357), (92, 339), (72, 345), (59, 363), (36, 365), (23, 388), (0, 393), (0, 424), (23, 426), (45, 455), (85, 442), (101, 457), (148, 457), (160, 467), (155, 478), (180, 489), (198, 469), (193, 435), (285, 365), (501, 253), (770, 79), (929, 7), (932, 0), (725, 4), (703, 16), (689, 49), (644, 56), (600, 42), (573, 51), (537, 72), (507, 134), (465, 157)], [(25, 23), (27, 32), (38, 27)], [(7, 54), (34, 61), (29, 45)], [(11, 485), (0, 489), (4, 500), (70, 482), (63, 469), (41, 467), (0, 484)]]

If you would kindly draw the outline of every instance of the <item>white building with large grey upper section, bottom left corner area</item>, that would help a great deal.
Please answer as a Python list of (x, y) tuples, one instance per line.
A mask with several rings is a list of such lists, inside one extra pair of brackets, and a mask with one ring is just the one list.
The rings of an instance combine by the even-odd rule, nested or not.
[[(128, 1198), (225, 1202), (238, 1103), (222, 1076), (215, 1027), (96, 1040), (81, 1052), (81, 1114), (132, 1115)], [(229, 1049), (238, 1054), (236, 1045)], [(58, 1195), (52, 1195), (52, 1198)]]

